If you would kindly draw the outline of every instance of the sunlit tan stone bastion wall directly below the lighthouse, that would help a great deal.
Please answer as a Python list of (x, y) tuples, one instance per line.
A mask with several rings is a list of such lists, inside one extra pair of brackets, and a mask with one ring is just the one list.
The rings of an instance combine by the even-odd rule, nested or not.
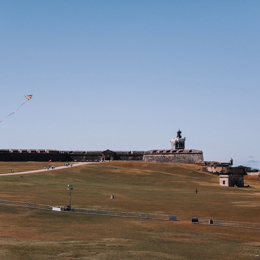
[(204, 163), (203, 154), (201, 153), (188, 153), (188, 154), (144, 154), (144, 161), (153, 162), (167, 162), (167, 163)]

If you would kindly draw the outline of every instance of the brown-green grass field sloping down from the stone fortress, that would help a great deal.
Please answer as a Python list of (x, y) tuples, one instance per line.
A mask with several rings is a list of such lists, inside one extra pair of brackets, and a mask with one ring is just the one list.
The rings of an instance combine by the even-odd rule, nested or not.
[[(27, 170), (46, 163), (19, 164)], [(0, 163), (0, 171), (11, 168), (12, 163)], [(222, 187), (218, 176), (201, 168), (117, 161), (23, 179), (1, 176), (0, 199), (63, 206), (69, 201), (67, 185), (73, 184), (72, 207), (173, 214), (179, 221), (0, 205), (0, 259), (251, 259), (244, 255), (260, 254), (260, 230), (191, 224), (192, 217), (260, 223), (260, 181), (245, 177), (249, 188)]]

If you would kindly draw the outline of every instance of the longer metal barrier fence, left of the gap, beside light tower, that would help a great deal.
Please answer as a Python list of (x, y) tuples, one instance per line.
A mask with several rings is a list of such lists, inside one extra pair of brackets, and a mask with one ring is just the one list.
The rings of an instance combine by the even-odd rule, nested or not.
[(100, 210), (100, 209), (81, 209), (81, 208), (70, 208), (64, 210), (60, 206), (51, 206), (38, 203), (12, 201), (12, 200), (0, 200), (2, 205), (26, 207), (28, 209), (46, 209), (53, 210), (53, 207), (60, 208), (62, 212), (67, 213), (81, 213), (81, 214), (92, 214), (92, 215), (103, 215), (103, 216), (115, 216), (115, 217), (127, 217), (127, 218), (148, 218), (157, 220), (169, 220), (169, 215), (155, 214), (155, 213), (141, 213), (141, 212), (125, 212), (125, 211), (111, 211), (111, 210)]

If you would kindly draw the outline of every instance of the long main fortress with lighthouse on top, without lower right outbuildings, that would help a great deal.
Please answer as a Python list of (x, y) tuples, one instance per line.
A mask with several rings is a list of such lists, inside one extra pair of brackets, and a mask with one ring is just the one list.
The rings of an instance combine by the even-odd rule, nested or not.
[(0, 161), (151, 161), (205, 165), (203, 153), (185, 149), (186, 138), (170, 140), (171, 149), (150, 151), (58, 151), (45, 149), (0, 149)]

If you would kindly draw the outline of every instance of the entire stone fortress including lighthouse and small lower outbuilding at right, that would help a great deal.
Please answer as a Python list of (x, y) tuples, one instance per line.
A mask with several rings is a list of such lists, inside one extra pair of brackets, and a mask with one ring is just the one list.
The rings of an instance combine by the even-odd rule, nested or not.
[[(204, 166), (203, 171), (220, 176), (220, 185), (244, 187), (243, 166), (232, 167), (229, 162), (204, 161), (200, 150), (185, 149), (186, 138), (177, 131), (170, 140), (171, 149), (150, 151), (59, 151), (45, 149), (0, 149), (0, 161), (150, 161), (161, 163), (192, 163)], [(260, 174), (259, 174), (260, 176)], [(260, 177), (259, 177), (260, 178)]]

